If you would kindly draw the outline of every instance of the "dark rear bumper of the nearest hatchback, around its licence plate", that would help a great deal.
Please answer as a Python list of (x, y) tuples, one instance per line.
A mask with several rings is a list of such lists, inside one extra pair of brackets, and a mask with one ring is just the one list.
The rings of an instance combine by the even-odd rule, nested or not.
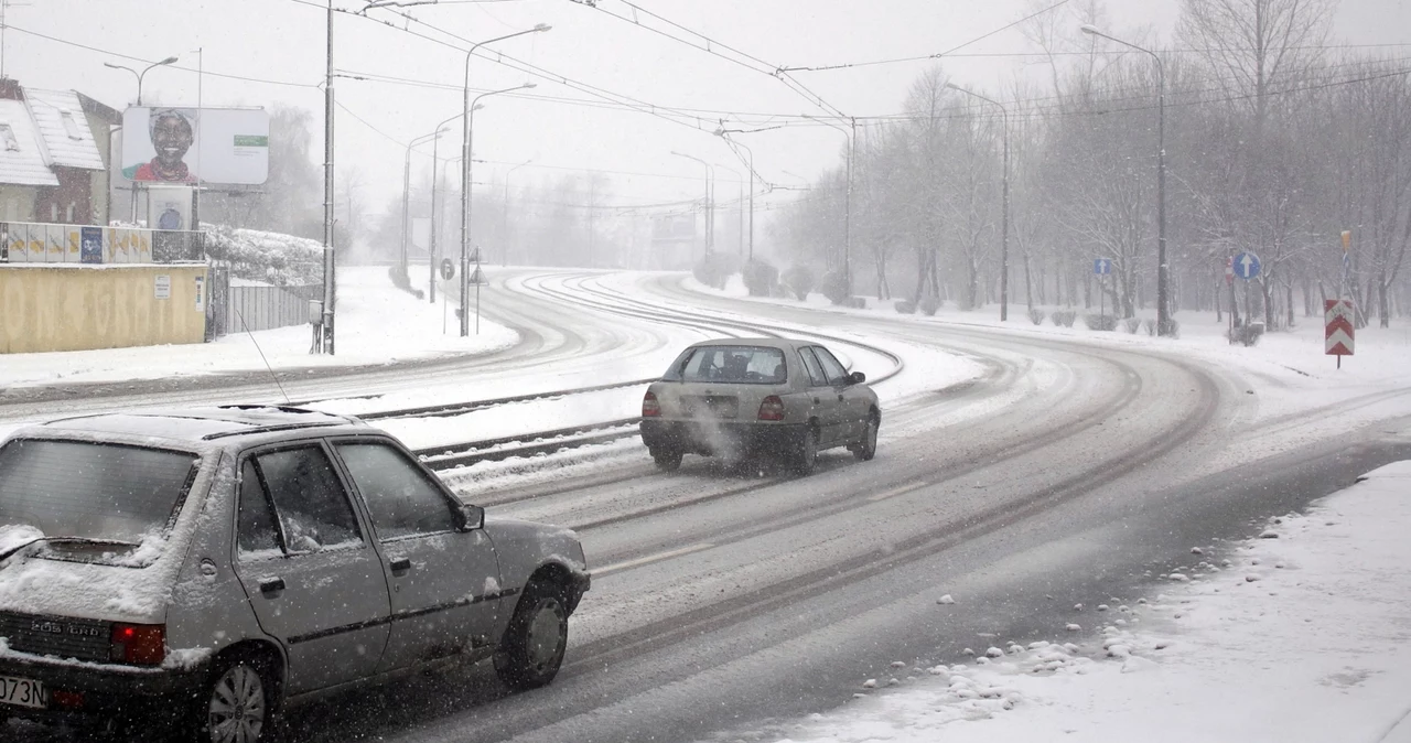
[(0, 657), (0, 675), (40, 681), (48, 696), (45, 709), (0, 704), (0, 713), (37, 720), (96, 720), (175, 709), (195, 698), (206, 668), (127, 667), (10, 651)]

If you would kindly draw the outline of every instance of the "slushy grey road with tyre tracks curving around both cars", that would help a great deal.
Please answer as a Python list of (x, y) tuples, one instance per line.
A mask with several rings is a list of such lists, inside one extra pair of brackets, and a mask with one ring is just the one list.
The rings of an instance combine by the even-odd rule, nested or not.
[[(1103, 615), (1116, 632), (1132, 629), (1116, 625), (1120, 613), (1134, 612), (1141, 630), (1178, 622), (1167, 615), (1180, 599), (1165, 591), (1157, 601), (1161, 591), (1153, 587), (1199, 567), (1192, 546), (1209, 547), (1205, 561), (1221, 555), (1237, 564), (1239, 553), (1221, 540), (1257, 534), (1271, 515), (1411, 458), (1411, 395), (1397, 376), (1411, 365), (1394, 338), (1376, 334), (1364, 348), (1381, 362), (1379, 372), (1329, 378), (1297, 343), (1271, 338), (1232, 352), (1209, 343), (1197, 323), (1182, 341), (998, 328), (954, 313), (924, 319), (742, 302), (653, 274), (515, 272), (492, 295), (538, 328), (539, 347), (507, 351), (504, 368), (483, 357), (473, 375), (436, 372), (467, 376), (456, 382), (406, 374), (394, 389), (392, 374), (378, 372), (370, 386), (382, 398), (325, 405), (396, 407), (444, 395), (559, 389), (563, 379), (649, 376), (682, 344), (713, 331), (703, 324), (720, 331), (763, 323), (851, 338), (900, 357), (904, 369), (878, 388), (885, 399), (878, 458), (830, 453), (804, 479), (697, 458), (677, 474), (659, 474), (635, 443), (446, 475), (499, 515), (583, 536), (598, 575), (571, 622), (560, 678), (509, 698), (483, 670), (411, 680), (309, 708), (295, 720), (298, 740), (869, 740), (866, 720), (899, 708), (859, 715), (845, 708), (841, 718), (797, 725), (865, 692), (868, 678), (886, 685), (906, 670), (902, 685), (921, 687), (906, 675), (930, 674), (910, 670), (943, 664), (938, 675), (948, 685), (928, 691), (934, 701), (899, 704), (969, 715), (957, 704), (965, 695), (951, 699), (947, 689), (979, 695), (996, 680), (959, 673), (964, 680), (951, 687), (952, 665), (976, 663), (965, 649), (993, 646), (1010, 658), (1012, 643), (1071, 641), (1078, 650), (1064, 649), (1062, 657), (1047, 647), (1020, 660), (1038, 663), (1048, 653), (1043, 663), (1057, 663), (1054, 671), (1094, 665), (1077, 658), (1103, 656), (1102, 627), (1089, 619), (1099, 605), (1109, 606)], [(883, 362), (865, 350), (851, 357), (869, 375)], [(361, 392), (356, 379), (340, 385)], [(615, 416), (629, 412), (636, 395), (539, 400), (450, 424), (398, 426), (409, 438), (437, 440), (460, 427), (490, 437), (525, 420)], [(1206, 574), (1211, 584), (1226, 575)], [(1081, 618), (1078, 603), (1086, 608)], [(1005, 670), (988, 665), (986, 673)], [(1352, 695), (1360, 687), (1346, 688)], [(1070, 699), (1026, 687), (1005, 715), (1022, 719), (1044, 694)], [(1003, 694), (996, 704), (1003, 706)], [(928, 739), (919, 735), (913, 739)]]

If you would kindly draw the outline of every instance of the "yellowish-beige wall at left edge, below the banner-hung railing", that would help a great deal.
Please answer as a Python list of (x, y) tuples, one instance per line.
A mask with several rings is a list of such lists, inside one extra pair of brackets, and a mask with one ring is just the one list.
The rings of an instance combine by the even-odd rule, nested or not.
[(205, 265), (0, 265), (0, 354), (202, 343), (206, 281)]

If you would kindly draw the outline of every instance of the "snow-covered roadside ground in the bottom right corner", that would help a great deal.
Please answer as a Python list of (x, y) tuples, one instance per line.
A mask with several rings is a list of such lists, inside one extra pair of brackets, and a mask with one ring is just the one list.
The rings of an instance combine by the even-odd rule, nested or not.
[(858, 680), (844, 708), (761, 737), (1408, 743), (1408, 533), (1411, 462), (1397, 462), (1261, 539), (1192, 546), (1149, 596), (1074, 608), (1053, 641), (897, 663), (895, 678)]

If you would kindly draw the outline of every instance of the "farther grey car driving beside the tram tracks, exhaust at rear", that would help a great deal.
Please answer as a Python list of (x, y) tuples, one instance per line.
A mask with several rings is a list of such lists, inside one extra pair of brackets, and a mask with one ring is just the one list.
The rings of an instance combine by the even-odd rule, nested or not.
[(862, 372), (818, 343), (727, 338), (697, 343), (642, 398), (642, 441), (658, 467), (684, 454), (768, 457), (811, 472), (818, 451), (878, 450), (882, 407)]

